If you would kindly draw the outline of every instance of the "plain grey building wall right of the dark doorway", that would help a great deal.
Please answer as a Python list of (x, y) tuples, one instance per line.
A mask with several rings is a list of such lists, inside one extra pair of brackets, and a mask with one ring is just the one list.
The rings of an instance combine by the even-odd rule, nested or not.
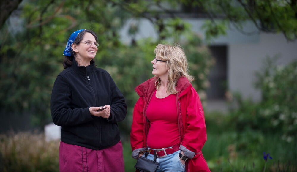
[(255, 89), (255, 72), (263, 68), (267, 57), (279, 56), (277, 64), (285, 65), (297, 59), (297, 41), (288, 42), (282, 34), (260, 33), (259, 41), (228, 45), (228, 87), (244, 98), (260, 100)]

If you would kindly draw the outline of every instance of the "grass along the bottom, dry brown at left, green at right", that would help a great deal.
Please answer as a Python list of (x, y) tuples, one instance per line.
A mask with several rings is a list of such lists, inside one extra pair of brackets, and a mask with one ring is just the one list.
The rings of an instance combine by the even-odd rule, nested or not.
[[(211, 171), (263, 171), (263, 152), (270, 153), (266, 171), (297, 171), (297, 141), (283, 141), (279, 134), (255, 131), (208, 132), (203, 147)], [(135, 171), (129, 141), (123, 140), (125, 171)], [(46, 142), (43, 134), (0, 135), (0, 171), (59, 171), (59, 141)]]

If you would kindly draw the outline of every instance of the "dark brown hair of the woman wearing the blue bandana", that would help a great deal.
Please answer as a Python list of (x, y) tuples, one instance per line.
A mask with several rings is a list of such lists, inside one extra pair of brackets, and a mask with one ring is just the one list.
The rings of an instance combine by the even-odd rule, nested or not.
[[(77, 37), (75, 38), (73, 44), (79, 44), (83, 40), (83, 36), (86, 34), (86, 32), (92, 34), (95, 37), (96, 42), (98, 42), (98, 37), (94, 31), (91, 30), (83, 30), (81, 31)], [(71, 56), (65, 56), (64, 61), (63, 61), (63, 66), (64, 69), (72, 65), (72, 61), (75, 58), (75, 52), (71, 51)], [(91, 60), (91, 63), (94, 63), (94, 59)]]

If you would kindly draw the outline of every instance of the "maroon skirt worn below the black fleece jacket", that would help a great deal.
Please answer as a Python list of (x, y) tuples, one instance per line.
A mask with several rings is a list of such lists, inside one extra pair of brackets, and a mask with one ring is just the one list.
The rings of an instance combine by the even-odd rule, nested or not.
[(121, 141), (102, 150), (60, 142), (60, 172), (124, 172), (123, 146)]

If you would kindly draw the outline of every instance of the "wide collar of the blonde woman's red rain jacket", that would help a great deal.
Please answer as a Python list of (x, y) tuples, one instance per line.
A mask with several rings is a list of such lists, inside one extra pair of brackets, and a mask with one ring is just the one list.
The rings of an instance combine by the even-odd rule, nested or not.
[[(141, 83), (135, 88), (135, 92), (139, 97), (147, 96), (149, 93), (156, 89), (155, 86), (156, 77), (152, 77), (145, 82)], [(177, 81), (176, 90), (178, 91), (178, 97), (183, 96), (191, 88), (192, 84), (186, 77), (180, 77)]]

